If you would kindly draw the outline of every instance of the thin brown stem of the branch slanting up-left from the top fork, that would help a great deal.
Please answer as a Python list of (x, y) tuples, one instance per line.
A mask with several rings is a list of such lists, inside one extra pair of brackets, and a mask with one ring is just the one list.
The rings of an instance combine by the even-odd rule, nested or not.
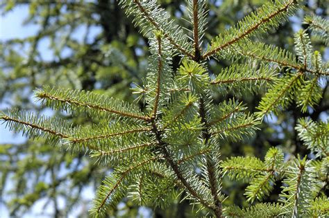
[(149, 14), (149, 12), (147, 12), (147, 10), (142, 6), (142, 4), (140, 3), (140, 0), (133, 0), (133, 2), (137, 5), (137, 7), (140, 9), (140, 12), (142, 12), (142, 14), (145, 15), (146, 19), (149, 20), (149, 22), (160, 32), (163, 33), (163, 35), (169, 40), (170, 44), (172, 44), (175, 48), (177, 48), (181, 53), (183, 53), (184, 55), (187, 55), (188, 57), (191, 57), (192, 59), (194, 58), (194, 56), (189, 53), (188, 51), (186, 51), (185, 48), (181, 47), (178, 43), (175, 42), (175, 40), (168, 35), (168, 33), (166, 33), (165, 30), (163, 30), (161, 28), (161, 26), (155, 21), (155, 19), (153, 19), (153, 17), (151, 17), (151, 15)]

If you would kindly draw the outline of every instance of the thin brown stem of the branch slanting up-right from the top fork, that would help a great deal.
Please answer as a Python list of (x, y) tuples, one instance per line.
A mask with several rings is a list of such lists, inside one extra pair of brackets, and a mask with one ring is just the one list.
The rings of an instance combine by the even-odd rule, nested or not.
[(263, 24), (270, 24), (273, 18), (278, 17), (278, 15), (280, 15), (280, 14), (286, 13), (287, 10), (289, 9), (289, 7), (292, 6), (294, 3), (296, 3), (296, 0), (287, 1), (287, 3), (285, 3), (284, 6), (282, 6), (282, 8), (278, 8), (278, 10), (273, 11), (267, 17), (262, 17), (260, 19), (260, 21), (258, 21), (256, 24), (253, 24), (251, 27), (249, 27), (247, 30), (245, 30), (244, 33), (240, 33), (239, 35), (237, 35), (237, 37), (234, 37), (233, 39), (229, 40), (228, 42), (226, 42), (224, 44), (220, 44), (219, 46), (216, 46), (216, 48), (212, 48), (210, 51), (203, 54), (202, 60), (205, 60), (206, 58), (214, 55), (218, 51), (221, 51), (222, 49), (224, 49), (232, 44), (235, 44), (239, 40), (244, 39), (248, 35), (251, 35), (251, 33), (253, 33), (253, 31), (260, 28), (260, 26), (262, 26)]

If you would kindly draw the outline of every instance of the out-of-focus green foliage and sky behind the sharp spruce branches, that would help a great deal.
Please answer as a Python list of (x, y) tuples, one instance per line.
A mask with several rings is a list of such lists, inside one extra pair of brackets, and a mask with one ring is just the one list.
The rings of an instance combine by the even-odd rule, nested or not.
[[(208, 31), (203, 46), (261, 6), (264, 0), (208, 2)], [(179, 19), (180, 25), (190, 28), (185, 21), (188, 18), (184, 1), (159, 0), (159, 3), (174, 19)], [(261, 40), (293, 51), (294, 32), (307, 28), (303, 17), (327, 17), (329, 9), (326, 3), (326, 0), (305, 1), (305, 10), (299, 11)], [(124, 15), (117, 1), (7, 0), (1, 3), (1, 16), (5, 17), (23, 6), (28, 8), (28, 17), (22, 19), (22, 24), (27, 29), (33, 27), (33, 35), (1, 39), (0, 110), (15, 107), (40, 111), (48, 116), (58, 113), (75, 125), (96, 122), (87, 117), (71, 117), (40, 107), (31, 96), (33, 90), (44, 84), (93, 90), (128, 101), (135, 99), (130, 88), (140, 84), (146, 75), (148, 41), (138, 33), (131, 18)], [(6, 30), (1, 31), (2, 35), (6, 35)], [(328, 60), (328, 48), (317, 39), (312, 39), (312, 43)], [(230, 64), (221, 60), (210, 60), (209, 63), (209, 69), (214, 74)], [(180, 57), (177, 56), (174, 58), (174, 68), (179, 64)], [(223, 158), (237, 155), (262, 158), (271, 146), (280, 146), (287, 154), (308, 154), (301, 146), (294, 127), (296, 120), (303, 116), (310, 116), (313, 120), (328, 119), (327, 87), (328, 82), (323, 89), (324, 98), (314, 110), (301, 113), (296, 105), (292, 105), (280, 116), (265, 119), (254, 138), (243, 143), (223, 143)], [(226, 98), (228, 96), (219, 95), (215, 100), (220, 102)], [(261, 96), (244, 93), (241, 98), (250, 111), (255, 111)], [(1, 135), (1, 138), (6, 141), (6, 135)], [(85, 154), (71, 154), (65, 149), (51, 147), (42, 139), (0, 145), (0, 161), (0, 203), (13, 217), (88, 217), (87, 210), (95, 188), (111, 172), (106, 166), (95, 165)], [(229, 194), (226, 203), (248, 206), (243, 196), (245, 187), (242, 183), (224, 179), (223, 192)], [(277, 199), (279, 192), (274, 190), (267, 201)], [(185, 201), (178, 206), (180, 200), (172, 202), (170, 208), (151, 210), (124, 199), (109, 216), (192, 217), (189, 213), (192, 208)]]

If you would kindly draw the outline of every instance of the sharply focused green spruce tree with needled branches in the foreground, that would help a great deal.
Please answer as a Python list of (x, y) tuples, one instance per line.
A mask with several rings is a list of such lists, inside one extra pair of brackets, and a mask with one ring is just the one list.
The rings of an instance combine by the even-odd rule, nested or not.
[[(72, 152), (85, 151), (113, 171), (104, 179), (90, 212), (104, 217), (123, 197), (140, 205), (166, 207), (184, 196), (195, 212), (215, 217), (326, 217), (328, 215), (328, 123), (299, 120), (298, 136), (311, 158), (287, 156), (272, 147), (264, 161), (252, 156), (221, 158), (223, 142), (236, 143), (255, 135), (264, 118), (282, 113), (293, 102), (301, 111), (319, 104), (328, 64), (313, 51), (305, 30), (296, 33), (295, 52), (260, 42), (296, 10), (300, 1), (269, 1), (228, 28), (208, 45), (206, 1), (187, 1), (193, 27), (189, 33), (172, 20), (156, 1), (120, 1), (149, 39), (151, 56), (143, 84), (133, 94), (141, 110), (115, 98), (89, 91), (44, 87), (35, 91), (41, 104), (73, 116), (87, 116), (90, 126), (27, 111), (1, 112), (13, 131), (31, 138), (44, 136), (53, 145)], [(328, 23), (306, 17), (309, 30), (328, 44)], [(172, 67), (179, 55), (180, 66)], [(229, 60), (218, 73), (208, 60)], [(258, 111), (248, 111), (239, 96), (264, 93)], [(214, 95), (232, 96), (215, 102)], [(248, 183), (251, 207), (227, 205), (222, 191), (228, 177)], [(266, 202), (282, 182), (278, 202)]]

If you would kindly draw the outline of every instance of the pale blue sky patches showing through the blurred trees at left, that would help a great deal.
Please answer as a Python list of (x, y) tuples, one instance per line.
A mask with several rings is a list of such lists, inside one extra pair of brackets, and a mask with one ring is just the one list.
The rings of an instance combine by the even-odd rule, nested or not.
[[(1, 15), (0, 17), (0, 41), (7, 40), (7, 39), (13, 39), (13, 38), (21, 38), (24, 39), (25, 37), (33, 36), (38, 31), (37, 25), (26, 25), (22, 26), (22, 23), (24, 19), (28, 16), (28, 6), (18, 6), (15, 7), (14, 10), (8, 12), (6, 15)], [(77, 40), (83, 40), (83, 36), (85, 35), (86, 28), (83, 26), (80, 26), (76, 29), (76, 31), (73, 33), (73, 36)], [(98, 35), (101, 31), (101, 28), (94, 26), (90, 29), (90, 33), (88, 35), (88, 38), (92, 39), (95, 37), (95, 35)], [(40, 41), (40, 44), (38, 46), (40, 48), (40, 52), (42, 53), (42, 57), (44, 60), (53, 60), (53, 51), (49, 49), (49, 40), (42, 39)], [(66, 51), (62, 55), (69, 55), (69, 51)], [(6, 105), (0, 102), (0, 109), (5, 108)], [(50, 115), (51, 112), (46, 112), (47, 115)], [(3, 143), (14, 143), (14, 144), (20, 144), (24, 143), (26, 141), (26, 138), (22, 137), (20, 134), (13, 134), (12, 131), (9, 131), (9, 129), (5, 128), (5, 125), (0, 125), (0, 144)], [(10, 188), (10, 187), (7, 187)], [(5, 190), (6, 192), (6, 190)], [(87, 186), (82, 191), (82, 197), (85, 201), (90, 201), (94, 197), (94, 188), (92, 185)], [(4, 196), (6, 198), (6, 195)], [(1, 199), (0, 199), (1, 200)], [(3, 199), (6, 200), (6, 199)], [(47, 208), (43, 209), (44, 203), (46, 203), (47, 199), (41, 199), (40, 201), (37, 201), (31, 208), (30, 212), (26, 213), (23, 218), (32, 218), (37, 215), (38, 218), (48, 218), (53, 217), (51, 214), (53, 213), (53, 207), (51, 204), (47, 206)], [(65, 206), (64, 199), (58, 199), (58, 205), (60, 208), (63, 208)], [(72, 210), (69, 217), (78, 217), (78, 213), (84, 210), (85, 205), (82, 203), (81, 205), (77, 206)], [(87, 205), (89, 208), (90, 206)], [(41, 213), (42, 211), (47, 212), (48, 215), (45, 215), (44, 213)], [(151, 216), (151, 210), (146, 208), (140, 208), (140, 214), (143, 215), (143, 217), (150, 217)], [(3, 204), (3, 202), (0, 201), (0, 217), (1, 218), (7, 218), (9, 217), (9, 212), (6, 206)]]

